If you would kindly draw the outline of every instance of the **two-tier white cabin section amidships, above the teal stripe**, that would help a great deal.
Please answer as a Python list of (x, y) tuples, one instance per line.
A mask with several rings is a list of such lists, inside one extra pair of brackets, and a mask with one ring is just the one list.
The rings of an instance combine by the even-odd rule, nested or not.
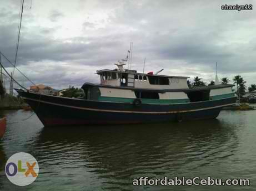
[[(152, 90), (188, 89), (187, 79), (184, 76), (165, 76), (137, 73), (136, 70), (98, 70), (101, 76), (100, 99), (158, 99), (184, 100), (188, 96), (184, 92), (152, 92)], [(112, 87), (117, 87), (113, 89)], [(143, 92), (142, 92), (142, 91)], [(147, 90), (151, 90), (150, 92)], [(130, 101), (130, 100), (127, 100)]]

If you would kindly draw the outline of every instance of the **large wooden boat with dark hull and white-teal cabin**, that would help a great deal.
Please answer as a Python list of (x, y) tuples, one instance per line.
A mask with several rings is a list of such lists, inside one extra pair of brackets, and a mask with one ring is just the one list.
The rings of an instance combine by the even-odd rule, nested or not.
[(80, 99), (16, 89), (44, 126), (124, 124), (215, 118), (235, 103), (234, 85), (189, 88), (186, 76), (137, 73), (124, 69), (98, 70), (100, 83), (82, 85)]

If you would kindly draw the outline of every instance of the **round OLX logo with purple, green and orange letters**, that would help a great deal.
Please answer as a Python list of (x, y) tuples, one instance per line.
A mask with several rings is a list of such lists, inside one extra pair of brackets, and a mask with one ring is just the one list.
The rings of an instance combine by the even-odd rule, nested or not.
[(6, 163), (6, 176), (16, 185), (24, 186), (36, 180), (39, 166), (36, 158), (28, 153), (16, 153)]

